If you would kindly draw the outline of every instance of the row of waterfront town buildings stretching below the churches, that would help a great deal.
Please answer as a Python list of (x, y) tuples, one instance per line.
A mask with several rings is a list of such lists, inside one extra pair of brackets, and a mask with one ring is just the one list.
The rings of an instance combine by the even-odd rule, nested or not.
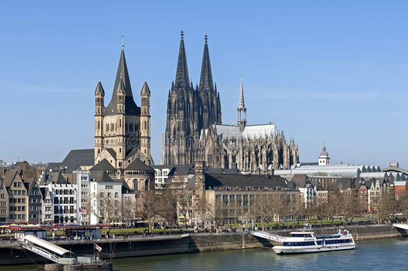
[[(160, 194), (163, 188), (172, 189), (177, 195), (174, 211), (176, 222), (181, 225), (197, 223), (200, 213), (217, 213), (221, 224), (247, 221), (254, 215), (259, 197), (276, 205), (290, 201), (308, 208), (327, 202), (330, 192), (335, 190), (354, 192), (358, 193), (359, 208), (373, 211), (385, 192), (398, 197), (408, 191), (404, 169), (398, 167), (378, 171), (376, 166), (344, 165), (349, 171), (336, 171), (333, 176), (321, 173), (280, 176), (273, 171), (263, 175), (245, 174), (239, 169), (211, 168), (203, 161), (151, 167), (140, 163), (134, 169), (137, 172), (128, 174), (144, 177), (135, 179), (133, 186), (129, 186), (121, 178), (121, 172), (106, 159), (88, 169), (85, 165), (75, 165), (74, 161), (84, 158), (83, 153), (79, 152), (82, 155), (77, 157), (75, 152), (71, 151), (59, 165), (49, 163), (38, 179), (25, 176), (22, 169), (5, 171), (0, 178), (0, 221), (83, 225), (130, 223), (140, 219), (142, 192), (154, 190)], [(316, 166), (321, 172), (329, 165)], [(339, 168), (344, 166), (338, 165)], [(348, 176), (351, 171), (359, 173), (361, 170), (373, 176)], [(211, 210), (200, 210), (198, 206), (211, 207)], [(290, 214), (281, 213), (273, 219), (290, 218)]]

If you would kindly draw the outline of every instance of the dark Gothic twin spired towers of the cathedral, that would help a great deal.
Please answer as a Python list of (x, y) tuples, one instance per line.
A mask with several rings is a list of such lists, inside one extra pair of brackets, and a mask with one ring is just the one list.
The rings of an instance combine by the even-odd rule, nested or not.
[(184, 33), (181, 32), (175, 82), (171, 83), (167, 101), (165, 164), (194, 163), (201, 131), (221, 124), (220, 95), (217, 85), (213, 84), (207, 39), (206, 35), (200, 83), (194, 88), (189, 81)]

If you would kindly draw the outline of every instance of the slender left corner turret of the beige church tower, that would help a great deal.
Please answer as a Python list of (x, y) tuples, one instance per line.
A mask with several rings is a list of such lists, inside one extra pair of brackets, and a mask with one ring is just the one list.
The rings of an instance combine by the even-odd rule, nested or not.
[(100, 83), (100, 79), (95, 89), (95, 159), (104, 147), (104, 98), (105, 90)]

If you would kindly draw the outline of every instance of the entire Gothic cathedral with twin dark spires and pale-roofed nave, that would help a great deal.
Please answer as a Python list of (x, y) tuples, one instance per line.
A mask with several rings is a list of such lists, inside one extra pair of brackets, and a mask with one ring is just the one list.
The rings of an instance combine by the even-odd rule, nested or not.
[(289, 144), (274, 123), (247, 125), (243, 82), (237, 125), (222, 125), (220, 93), (213, 84), (208, 37), (205, 37), (199, 85), (189, 82), (184, 33), (181, 33), (175, 82), (168, 93), (165, 164), (206, 161), (208, 167), (238, 168), (252, 173), (288, 169), (299, 160), (293, 139)]

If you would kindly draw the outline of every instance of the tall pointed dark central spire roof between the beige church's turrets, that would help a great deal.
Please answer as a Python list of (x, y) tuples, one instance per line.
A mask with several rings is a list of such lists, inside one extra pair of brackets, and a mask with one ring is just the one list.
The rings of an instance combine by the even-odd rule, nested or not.
[(126, 59), (124, 51), (120, 54), (119, 66), (116, 72), (115, 86), (113, 87), (112, 100), (105, 108), (105, 115), (116, 115), (117, 111), (117, 90), (123, 82), (125, 90), (125, 114), (137, 116), (140, 115), (140, 107), (138, 107), (133, 100), (132, 87), (129, 79), (129, 72), (127, 71)]

